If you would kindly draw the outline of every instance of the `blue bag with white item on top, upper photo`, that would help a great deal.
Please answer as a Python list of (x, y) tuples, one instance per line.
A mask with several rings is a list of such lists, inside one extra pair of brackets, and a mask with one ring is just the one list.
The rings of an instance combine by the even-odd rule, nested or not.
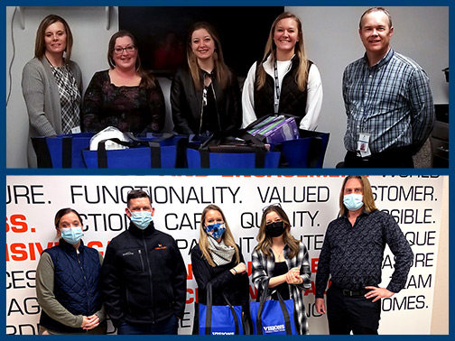
[[(128, 134), (131, 142), (118, 139), (103, 140), (98, 143), (97, 151), (84, 150), (83, 157), (87, 168), (176, 168), (180, 166), (178, 149), (185, 144), (180, 135), (157, 134), (136, 138)], [(106, 150), (106, 143), (114, 142), (127, 147), (120, 150)]]

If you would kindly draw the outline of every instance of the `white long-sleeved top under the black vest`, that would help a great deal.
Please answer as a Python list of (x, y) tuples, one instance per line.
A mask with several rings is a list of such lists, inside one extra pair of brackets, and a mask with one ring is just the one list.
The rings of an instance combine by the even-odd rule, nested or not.
[[(271, 62), (271, 56), (265, 60), (263, 64), (265, 72), (274, 78), (274, 65)], [(277, 61), (276, 69), (278, 71), (278, 81), (280, 91), (282, 88), (283, 78), (289, 72), (292, 66), (292, 60)], [(256, 120), (255, 115), (255, 71), (256, 63), (254, 63), (248, 71), (242, 91), (242, 109), (243, 123), (242, 128), (251, 124)], [(274, 91), (274, 97), (276, 92)], [(275, 98), (276, 99), (276, 98)], [(307, 104), (306, 115), (302, 118), (300, 128), (305, 130), (316, 130), (320, 116), (320, 107), (322, 106), (322, 82), (320, 80), (320, 72), (316, 65), (311, 64), (308, 72), (307, 80)]]

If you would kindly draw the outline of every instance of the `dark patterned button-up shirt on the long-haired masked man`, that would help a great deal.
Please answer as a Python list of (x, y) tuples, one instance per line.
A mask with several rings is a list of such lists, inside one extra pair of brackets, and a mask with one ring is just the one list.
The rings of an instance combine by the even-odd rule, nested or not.
[(387, 290), (398, 292), (406, 285), (413, 251), (394, 217), (376, 210), (364, 211), (352, 226), (339, 217), (327, 227), (316, 274), (316, 298), (323, 298), (327, 281), (348, 290), (361, 290), (381, 282), (385, 244), (395, 255), (395, 271)]

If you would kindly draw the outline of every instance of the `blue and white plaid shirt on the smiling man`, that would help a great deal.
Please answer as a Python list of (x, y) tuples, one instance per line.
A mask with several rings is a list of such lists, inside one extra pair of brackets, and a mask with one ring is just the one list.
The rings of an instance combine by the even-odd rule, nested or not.
[(373, 67), (366, 55), (349, 64), (343, 74), (343, 98), (349, 152), (357, 151), (360, 133), (371, 134), (373, 153), (404, 146), (418, 152), (432, 132), (430, 80), (415, 61), (392, 49)]

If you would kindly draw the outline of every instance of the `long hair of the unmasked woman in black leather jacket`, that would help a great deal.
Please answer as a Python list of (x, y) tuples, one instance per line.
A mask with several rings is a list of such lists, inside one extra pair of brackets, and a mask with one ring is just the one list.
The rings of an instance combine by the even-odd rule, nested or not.
[(209, 32), (209, 35), (213, 41), (215, 41), (215, 51), (213, 52), (214, 69), (219, 85), (221, 88), (226, 88), (228, 87), (228, 83), (233, 75), (228, 66), (225, 64), (223, 50), (221, 49), (221, 42), (219, 41), (217, 30), (215, 30), (215, 27), (213, 27), (210, 23), (206, 22), (195, 23), (188, 34), (187, 62), (190, 68), (191, 78), (193, 79), (194, 86), (195, 88), (200, 89), (202, 87), (202, 82), (200, 78), (200, 67), (198, 64), (198, 59), (191, 49), (191, 36), (193, 32), (200, 29), (205, 29), (207, 32)]

